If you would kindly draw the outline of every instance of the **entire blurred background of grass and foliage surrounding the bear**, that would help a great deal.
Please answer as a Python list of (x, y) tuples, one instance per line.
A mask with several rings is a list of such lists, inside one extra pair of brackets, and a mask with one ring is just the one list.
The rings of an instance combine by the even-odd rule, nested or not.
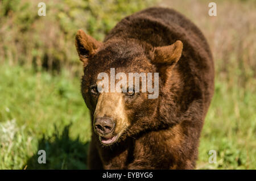
[[(46, 3), (46, 16), (38, 3)], [(80, 28), (103, 40), (146, 7), (171, 7), (207, 37), (215, 92), (197, 169), (256, 169), (256, 1), (0, 0), (0, 169), (86, 169), (89, 112), (80, 94)], [(46, 164), (38, 150), (46, 150)], [(217, 163), (209, 163), (209, 150)]]

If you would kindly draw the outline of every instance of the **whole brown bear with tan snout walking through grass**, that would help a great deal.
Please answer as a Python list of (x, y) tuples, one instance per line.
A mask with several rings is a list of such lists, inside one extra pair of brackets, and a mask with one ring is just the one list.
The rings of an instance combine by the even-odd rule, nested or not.
[[(75, 45), (92, 123), (88, 168), (195, 169), (214, 92), (213, 57), (199, 28), (176, 10), (151, 7), (123, 18), (103, 42), (79, 30)], [(152, 92), (127, 83), (121, 92), (109, 91), (123, 78), (107, 82), (113, 69), (127, 77), (154, 73), (150, 83), (158, 85), (158, 96), (150, 99)]]

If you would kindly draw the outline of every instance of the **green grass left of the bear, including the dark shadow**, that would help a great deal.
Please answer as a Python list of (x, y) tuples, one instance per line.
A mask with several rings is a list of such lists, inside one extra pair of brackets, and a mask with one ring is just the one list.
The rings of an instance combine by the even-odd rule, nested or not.
[[(5, 64), (0, 82), (0, 169), (86, 168), (90, 121), (80, 78)], [(37, 163), (40, 149), (46, 165)]]

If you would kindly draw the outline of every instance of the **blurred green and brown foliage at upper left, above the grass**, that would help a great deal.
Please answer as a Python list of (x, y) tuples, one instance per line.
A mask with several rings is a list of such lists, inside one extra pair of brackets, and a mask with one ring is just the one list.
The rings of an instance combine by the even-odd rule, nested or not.
[(40, 0), (0, 1), (0, 62), (75, 71), (77, 30), (103, 40), (118, 20), (154, 1), (46, 0), (46, 16), (38, 15)]

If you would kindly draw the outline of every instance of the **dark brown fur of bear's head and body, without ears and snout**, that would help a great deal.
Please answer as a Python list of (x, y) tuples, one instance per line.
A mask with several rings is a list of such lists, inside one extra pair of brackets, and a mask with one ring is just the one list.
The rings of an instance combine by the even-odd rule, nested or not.
[[(157, 64), (157, 47), (177, 40), (183, 43), (181, 57), (175, 57), (174, 65)], [(194, 169), (214, 90), (213, 58), (199, 28), (179, 12), (164, 8), (122, 19), (84, 68), (81, 92), (91, 112), (92, 130), (97, 97), (89, 87), (98, 73), (110, 68), (125, 73), (159, 72), (159, 96), (123, 96), (129, 127), (110, 146), (102, 145), (92, 133), (89, 169)]]

